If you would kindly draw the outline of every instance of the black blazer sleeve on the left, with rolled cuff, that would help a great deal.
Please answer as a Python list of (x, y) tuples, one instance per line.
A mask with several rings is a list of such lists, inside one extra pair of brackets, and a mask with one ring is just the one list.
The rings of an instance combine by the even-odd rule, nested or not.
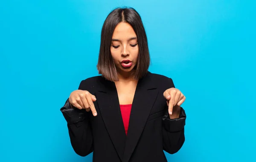
[[(84, 81), (81, 81), (79, 90), (84, 90), (84, 84)], [(89, 119), (90, 112), (71, 107), (67, 99), (64, 106), (61, 107), (61, 113), (67, 121), (70, 142), (74, 151), (80, 156), (87, 156), (93, 151), (93, 135)]]

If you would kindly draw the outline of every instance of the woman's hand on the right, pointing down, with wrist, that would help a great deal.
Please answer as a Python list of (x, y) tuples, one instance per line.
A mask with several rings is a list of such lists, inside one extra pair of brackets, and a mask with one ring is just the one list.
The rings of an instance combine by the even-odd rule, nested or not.
[(180, 116), (180, 105), (183, 104), (186, 97), (176, 88), (169, 88), (163, 93), (163, 96), (167, 100), (170, 118), (178, 118)]

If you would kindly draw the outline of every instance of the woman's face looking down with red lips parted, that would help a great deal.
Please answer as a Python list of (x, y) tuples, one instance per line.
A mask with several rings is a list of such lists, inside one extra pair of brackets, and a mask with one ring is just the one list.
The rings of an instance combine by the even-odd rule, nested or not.
[(129, 23), (119, 23), (112, 35), (111, 55), (117, 72), (131, 72), (137, 64), (139, 46), (137, 35)]

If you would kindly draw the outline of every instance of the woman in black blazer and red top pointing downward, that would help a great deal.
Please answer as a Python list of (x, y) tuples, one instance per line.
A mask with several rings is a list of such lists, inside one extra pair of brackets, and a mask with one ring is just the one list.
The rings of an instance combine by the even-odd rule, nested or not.
[(93, 162), (166, 162), (184, 143), (185, 96), (171, 78), (148, 72), (147, 37), (140, 15), (118, 8), (102, 27), (97, 69), (81, 81), (61, 112), (70, 141)]

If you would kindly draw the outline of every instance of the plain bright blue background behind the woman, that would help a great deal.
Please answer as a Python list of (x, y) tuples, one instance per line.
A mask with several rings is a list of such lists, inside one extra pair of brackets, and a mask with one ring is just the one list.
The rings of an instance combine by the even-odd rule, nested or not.
[(85, 162), (60, 108), (98, 75), (102, 24), (134, 7), (150, 71), (186, 95), (186, 142), (171, 162), (250, 161), (256, 151), (253, 0), (3, 0), (0, 2), (0, 161)]

